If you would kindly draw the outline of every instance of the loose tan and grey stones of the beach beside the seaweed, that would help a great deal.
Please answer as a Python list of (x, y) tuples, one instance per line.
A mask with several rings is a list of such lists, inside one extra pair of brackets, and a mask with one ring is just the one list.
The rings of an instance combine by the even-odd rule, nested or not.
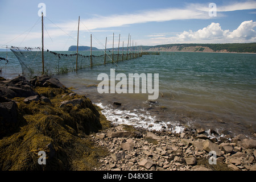
[[(100, 159), (104, 171), (255, 171), (256, 140), (238, 135), (230, 140), (209, 139), (204, 129), (194, 133), (152, 132), (119, 125), (91, 135), (108, 148)], [(224, 139), (223, 139), (224, 140)], [(216, 156), (209, 152), (216, 152)], [(210, 158), (212, 156), (212, 158)]]

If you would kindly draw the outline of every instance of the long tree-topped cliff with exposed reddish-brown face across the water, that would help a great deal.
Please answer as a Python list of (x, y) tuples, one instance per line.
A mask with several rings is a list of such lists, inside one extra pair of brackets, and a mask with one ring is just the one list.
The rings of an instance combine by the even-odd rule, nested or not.
[(256, 43), (165, 44), (165, 45), (159, 45), (159, 46), (142, 46), (141, 48), (143, 51), (256, 53)]

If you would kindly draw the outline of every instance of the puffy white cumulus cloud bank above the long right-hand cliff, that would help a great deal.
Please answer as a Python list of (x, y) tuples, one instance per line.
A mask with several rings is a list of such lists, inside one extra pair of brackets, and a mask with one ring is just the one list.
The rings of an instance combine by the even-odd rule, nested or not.
[(220, 23), (211, 23), (197, 31), (184, 31), (176, 36), (151, 36), (149, 40), (139, 40), (145, 46), (171, 43), (245, 43), (256, 41), (256, 22), (245, 21), (233, 31), (222, 30)]

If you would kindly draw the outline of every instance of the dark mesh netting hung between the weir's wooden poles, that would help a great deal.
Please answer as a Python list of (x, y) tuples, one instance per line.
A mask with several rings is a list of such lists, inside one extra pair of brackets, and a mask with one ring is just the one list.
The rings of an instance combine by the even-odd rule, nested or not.
[[(42, 51), (40, 47), (23, 49), (12, 47), (11, 51), (19, 60), (24, 77), (32, 78), (42, 75)], [(84, 53), (88, 54), (88, 52)], [(44, 74), (57, 75), (76, 71), (76, 57), (77, 69), (82, 69), (108, 63), (117, 64), (119, 61), (135, 59), (142, 56), (142, 53), (135, 52), (122, 54), (109, 52), (108, 54), (104, 53), (99, 56), (83, 55), (84, 53), (79, 53), (77, 56), (76, 53), (65, 54), (49, 50), (44, 51)]]

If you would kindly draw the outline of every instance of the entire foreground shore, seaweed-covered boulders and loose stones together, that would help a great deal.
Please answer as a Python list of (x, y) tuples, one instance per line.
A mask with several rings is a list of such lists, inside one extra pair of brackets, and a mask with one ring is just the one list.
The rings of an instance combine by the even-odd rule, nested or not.
[[(40, 151), (46, 165), (38, 163)], [(0, 77), (0, 156), (1, 171), (255, 171), (256, 140), (112, 126), (56, 78)]]

